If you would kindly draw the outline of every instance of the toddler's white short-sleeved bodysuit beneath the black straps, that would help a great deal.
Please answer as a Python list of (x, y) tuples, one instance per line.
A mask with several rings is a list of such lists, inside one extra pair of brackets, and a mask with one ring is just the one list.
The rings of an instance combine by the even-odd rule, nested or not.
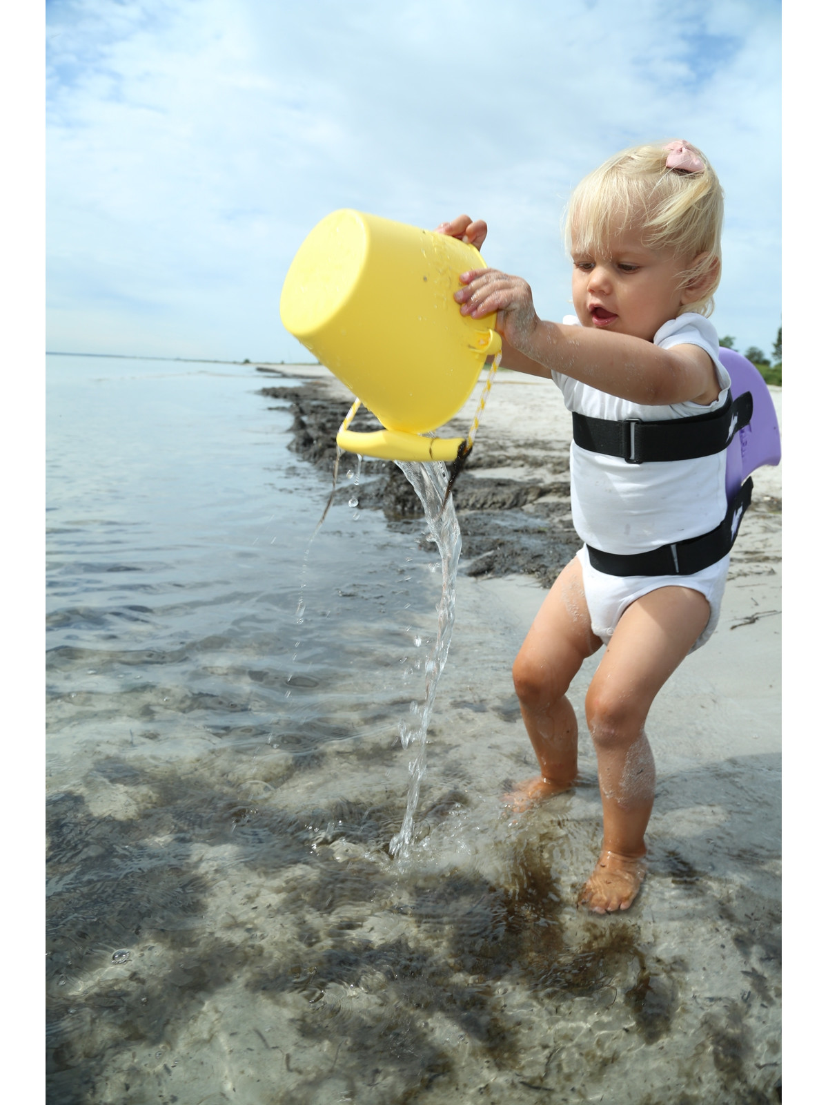
[[(569, 316), (565, 322), (574, 324), (576, 319)], [(715, 328), (703, 315), (688, 312), (665, 323), (656, 333), (654, 345), (662, 349), (698, 345), (704, 349), (719, 379), (715, 401), (708, 407), (693, 402), (646, 407), (598, 391), (562, 372), (552, 372), (566, 409), (614, 421), (627, 418), (666, 421), (709, 413), (726, 401), (730, 376), (719, 360)], [(570, 470), (575, 532), (585, 545), (616, 554), (645, 552), (707, 534), (719, 525), (728, 509), (725, 463), (725, 452), (721, 452), (689, 461), (628, 464), (623, 457), (593, 453), (573, 441)], [(710, 603), (710, 618), (693, 650), (712, 635), (719, 621), (730, 555), (692, 576), (609, 576), (592, 567), (585, 547), (577, 557), (592, 630), (604, 644), (629, 603), (660, 587), (701, 591)]]

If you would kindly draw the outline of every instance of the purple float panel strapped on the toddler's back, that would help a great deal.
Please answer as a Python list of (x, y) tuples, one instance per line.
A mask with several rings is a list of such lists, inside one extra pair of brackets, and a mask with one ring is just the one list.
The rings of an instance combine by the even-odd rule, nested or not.
[(735, 349), (720, 348), (719, 359), (730, 373), (733, 398), (745, 391), (753, 397), (751, 421), (733, 435), (728, 445), (724, 485), (728, 502), (731, 502), (751, 472), (763, 464), (779, 463), (782, 442), (776, 408), (760, 370)]

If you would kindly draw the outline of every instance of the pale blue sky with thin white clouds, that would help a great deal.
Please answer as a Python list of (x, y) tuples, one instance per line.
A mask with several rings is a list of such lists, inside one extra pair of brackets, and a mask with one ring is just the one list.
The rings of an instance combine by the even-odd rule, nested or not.
[(50, 350), (312, 360), (282, 285), (347, 207), (486, 219), (560, 319), (571, 189), (686, 138), (725, 191), (713, 322), (771, 352), (778, 0), (47, 0), (45, 33)]

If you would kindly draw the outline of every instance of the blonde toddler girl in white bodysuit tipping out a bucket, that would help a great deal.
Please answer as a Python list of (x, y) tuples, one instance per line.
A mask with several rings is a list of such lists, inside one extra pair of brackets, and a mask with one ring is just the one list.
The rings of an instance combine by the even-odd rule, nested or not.
[[(455, 294), (464, 315), (497, 312), (502, 364), (551, 376), (573, 412), (572, 516), (584, 546), (514, 662), (540, 775), (510, 800), (520, 809), (572, 786), (577, 725), (565, 694), (605, 644), (585, 703), (604, 840), (578, 896), (596, 913), (627, 909), (638, 893), (655, 785), (645, 722), (715, 629), (728, 575), (730, 377), (707, 318), (721, 224), (722, 191), (703, 154), (687, 141), (638, 146), (587, 176), (569, 206), (580, 325), (539, 318), (529, 284), (491, 269), (464, 273)], [(487, 230), (467, 215), (438, 229), (478, 249)]]

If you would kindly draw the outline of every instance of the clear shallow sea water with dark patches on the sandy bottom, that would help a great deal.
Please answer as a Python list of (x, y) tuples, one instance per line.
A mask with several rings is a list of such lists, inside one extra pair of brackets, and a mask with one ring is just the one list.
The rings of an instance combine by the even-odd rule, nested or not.
[(47, 371), (50, 1103), (777, 1099), (775, 765), (667, 779), (643, 904), (578, 914), (588, 754), (503, 817), (530, 759), (467, 609), (392, 860), (434, 543), (343, 501), (306, 560), (329, 487), (253, 369)]

